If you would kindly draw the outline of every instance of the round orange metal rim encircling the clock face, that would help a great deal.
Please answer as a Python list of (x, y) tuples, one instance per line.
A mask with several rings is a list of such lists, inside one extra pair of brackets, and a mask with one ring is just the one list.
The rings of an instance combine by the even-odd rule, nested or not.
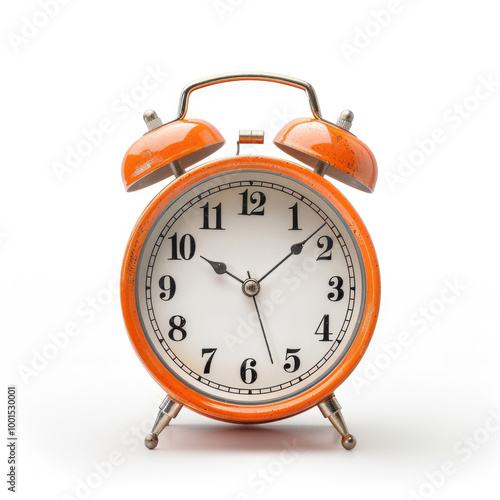
[[(135, 300), (135, 279), (141, 249), (148, 231), (165, 207), (190, 186), (215, 174), (235, 169), (266, 169), (286, 174), (313, 187), (346, 220), (359, 246), (366, 274), (366, 306), (358, 334), (342, 362), (314, 387), (285, 401), (266, 405), (224, 403), (195, 392), (175, 378), (151, 349), (141, 328)], [(377, 257), (368, 231), (350, 203), (326, 179), (299, 165), (276, 158), (232, 157), (201, 165), (169, 184), (150, 203), (139, 218), (122, 267), (121, 301), (131, 342), (145, 367), (171, 398), (209, 417), (233, 423), (262, 423), (283, 419), (311, 408), (329, 398), (354, 370), (365, 353), (377, 321), (380, 304), (380, 277)]]

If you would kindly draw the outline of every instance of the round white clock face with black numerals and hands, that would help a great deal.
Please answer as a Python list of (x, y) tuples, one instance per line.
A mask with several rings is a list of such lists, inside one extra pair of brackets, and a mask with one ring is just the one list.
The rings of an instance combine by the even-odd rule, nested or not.
[(135, 300), (173, 377), (252, 405), (302, 393), (339, 365), (365, 289), (358, 245), (331, 203), (284, 173), (236, 169), (166, 206), (141, 250)]

